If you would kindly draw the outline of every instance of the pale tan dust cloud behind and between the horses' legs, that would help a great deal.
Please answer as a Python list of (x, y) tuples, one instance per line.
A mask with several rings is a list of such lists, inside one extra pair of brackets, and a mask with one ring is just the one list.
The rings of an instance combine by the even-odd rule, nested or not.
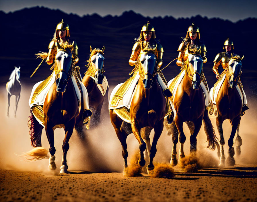
[[(114, 86), (110, 87), (109, 96)], [(25, 162), (17, 155), (23, 152), (28, 152), (33, 147), (30, 145), (29, 129), (27, 126), (28, 116), (30, 115), (28, 100), (32, 90), (32, 86), (25, 86), (22, 84), (22, 92), (20, 102), (17, 109), (17, 118), (14, 118), (13, 112), (15, 107), (15, 98), (11, 96), (11, 103), (9, 108), (10, 117), (7, 117), (7, 92), (4, 87), (1, 88), (0, 103), (2, 110), (0, 113), (0, 169), (17, 170), (17, 171), (37, 171), (46, 172), (48, 169), (48, 160), (38, 160), (34, 162)], [(257, 163), (256, 143), (257, 143), (257, 107), (255, 104), (256, 98), (248, 98), (249, 110), (241, 119), (239, 134), (242, 137), (241, 155), (235, 155), (235, 166), (252, 165)], [(216, 135), (219, 139), (215, 119), (211, 118), (212, 124), (215, 128)], [(185, 155), (189, 155), (190, 142), (189, 142), (189, 129), (184, 124), (184, 131), (186, 134), (186, 142), (184, 144)], [(231, 132), (231, 125), (229, 121), (223, 123), (223, 132), (225, 138), (225, 156), (227, 157), (228, 145), (227, 141)], [(62, 160), (62, 142), (64, 138), (64, 130), (56, 129), (54, 131), (54, 140), (56, 148), (57, 165), (56, 172), (60, 171)], [(236, 136), (235, 136), (236, 137)], [(153, 131), (151, 132), (150, 139), (153, 138)], [(212, 162), (218, 162), (217, 149), (211, 151), (206, 148), (207, 137), (205, 135), (203, 126), (197, 136), (197, 149), (200, 152), (201, 161), (206, 166), (214, 166)], [(234, 139), (235, 143), (235, 139)], [(88, 172), (122, 172), (123, 171), (123, 158), (122, 147), (116, 136), (116, 133), (110, 123), (108, 110), (102, 114), (102, 121), (98, 127), (90, 128), (84, 131), (84, 138), (81, 139), (76, 131), (69, 141), (69, 151), (67, 153), (68, 170), (83, 170)], [(164, 128), (163, 133), (157, 143), (157, 153), (154, 162), (168, 163), (171, 158), (172, 139), (167, 135)], [(49, 148), (49, 143), (46, 138), (46, 133), (43, 129), (42, 132), (42, 147)], [(235, 144), (234, 144), (235, 147)], [(138, 150), (139, 143), (133, 134), (127, 138), (127, 150), (129, 153), (128, 162)], [(179, 143), (177, 147), (179, 152)], [(178, 155), (177, 155), (178, 157)], [(178, 167), (178, 166), (177, 166)], [(176, 168), (176, 167), (175, 167)]]

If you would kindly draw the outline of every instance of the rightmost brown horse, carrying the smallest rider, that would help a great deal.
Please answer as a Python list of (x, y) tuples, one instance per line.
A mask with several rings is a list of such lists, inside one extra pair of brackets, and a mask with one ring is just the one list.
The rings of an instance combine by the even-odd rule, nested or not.
[(240, 88), (238, 85), (242, 85), (240, 81), (240, 75), (242, 73), (241, 60), (244, 58), (244, 56), (240, 57), (239, 55), (235, 55), (235, 56), (232, 56), (232, 55), (227, 68), (221, 74), (221, 77), (224, 77), (222, 80), (223, 83), (220, 87), (219, 92), (217, 93), (217, 98), (216, 98), (216, 107), (217, 107), (216, 125), (220, 135), (221, 157), (220, 157), (219, 166), (221, 167), (225, 165), (225, 155), (224, 155), (224, 149), (223, 149), (225, 140), (223, 137), (223, 129), (222, 129), (223, 121), (225, 121), (226, 119), (229, 119), (232, 125), (232, 131), (228, 140), (229, 158), (226, 161), (226, 163), (229, 166), (235, 165), (235, 159), (233, 157), (235, 154), (234, 147), (233, 147), (233, 139), (235, 137), (236, 130), (237, 130), (236, 144), (237, 144), (238, 154), (241, 153), (240, 146), (242, 145), (242, 139), (238, 135), (238, 130), (239, 130), (239, 125), (241, 120), (240, 114), (242, 111), (243, 103), (242, 103), (241, 96), (239, 94)]

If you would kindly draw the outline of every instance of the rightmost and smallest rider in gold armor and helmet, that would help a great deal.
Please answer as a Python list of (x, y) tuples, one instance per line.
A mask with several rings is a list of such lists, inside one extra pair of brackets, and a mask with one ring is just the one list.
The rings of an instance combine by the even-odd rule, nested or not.
[[(227, 38), (227, 40), (225, 40), (224, 44), (223, 44), (223, 50), (226, 50), (222, 53), (218, 53), (214, 59), (214, 65), (213, 65), (213, 72), (216, 74), (216, 78), (219, 79), (220, 75), (219, 75), (219, 65), (221, 64), (221, 66), (223, 67), (223, 69), (227, 68), (227, 65), (229, 63), (230, 57), (232, 53), (232, 50), (234, 50), (234, 44), (233, 41), (231, 41), (229, 38)], [(243, 96), (244, 96), (244, 103), (243, 103), (243, 108), (242, 108), (242, 112), (241, 115), (244, 114), (244, 112), (246, 110), (248, 110), (248, 106), (247, 106), (247, 100), (246, 100), (246, 94), (243, 90), (243, 86), (242, 85), (238, 85)]]

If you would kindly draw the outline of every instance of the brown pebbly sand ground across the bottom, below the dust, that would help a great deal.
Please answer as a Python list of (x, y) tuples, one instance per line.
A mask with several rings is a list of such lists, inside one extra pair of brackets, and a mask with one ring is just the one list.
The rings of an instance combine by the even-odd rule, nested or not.
[[(241, 170), (242, 169), (242, 170)], [(244, 170), (243, 170), (244, 169)], [(174, 179), (130, 177), (122, 173), (0, 171), (1, 201), (256, 201), (256, 171), (200, 170)], [(251, 168), (255, 169), (255, 168)]]

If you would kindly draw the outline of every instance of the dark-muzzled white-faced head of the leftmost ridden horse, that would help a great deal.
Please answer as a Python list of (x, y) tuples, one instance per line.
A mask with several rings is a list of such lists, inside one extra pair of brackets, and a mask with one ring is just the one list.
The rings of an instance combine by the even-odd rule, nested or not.
[(71, 73), (71, 59), (72, 54), (70, 50), (60, 50), (55, 56), (55, 64), (57, 67), (57, 92), (65, 92), (65, 88)]

